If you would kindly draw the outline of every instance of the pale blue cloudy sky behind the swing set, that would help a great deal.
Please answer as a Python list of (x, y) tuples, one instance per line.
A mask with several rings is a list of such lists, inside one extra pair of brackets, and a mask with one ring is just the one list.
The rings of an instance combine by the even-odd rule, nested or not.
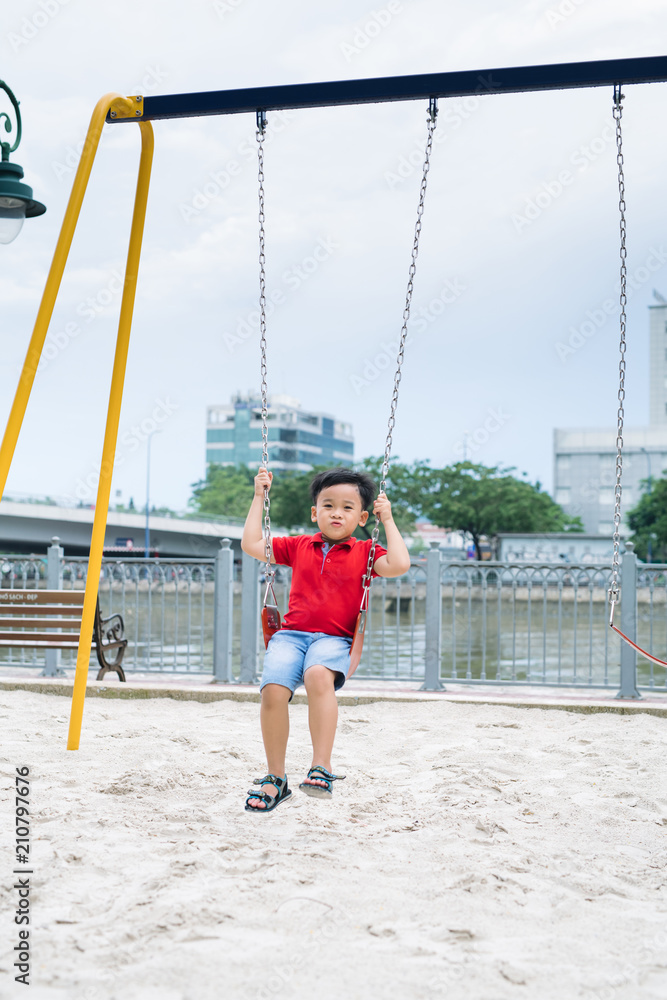
[[(109, 91), (176, 94), (662, 55), (662, 0), (4, 0), (12, 160), (47, 206), (0, 246), (4, 428), (78, 149)], [(648, 305), (667, 296), (667, 89), (625, 88), (626, 422), (648, 421)], [(10, 111), (0, 97), (0, 111)], [(618, 191), (610, 88), (440, 101), (393, 434), (552, 485), (556, 427), (616, 418)], [(112, 502), (185, 508), (207, 405), (258, 390), (254, 115), (156, 122)], [(426, 102), (269, 114), (269, 392), (350, 421), (381, 455)], [(4, 138), (4, 135), (3, 135)], [(93, 503), (139, 130), (106, 126), (6, 494)], [(315, 264), (314, 264), (315, 262)], [(316, 266), (315, 266), (316, 265)], [(280, 294), (276, 294), (280, 293)], [(610, 442), (613, 435), (610, 431)]]

